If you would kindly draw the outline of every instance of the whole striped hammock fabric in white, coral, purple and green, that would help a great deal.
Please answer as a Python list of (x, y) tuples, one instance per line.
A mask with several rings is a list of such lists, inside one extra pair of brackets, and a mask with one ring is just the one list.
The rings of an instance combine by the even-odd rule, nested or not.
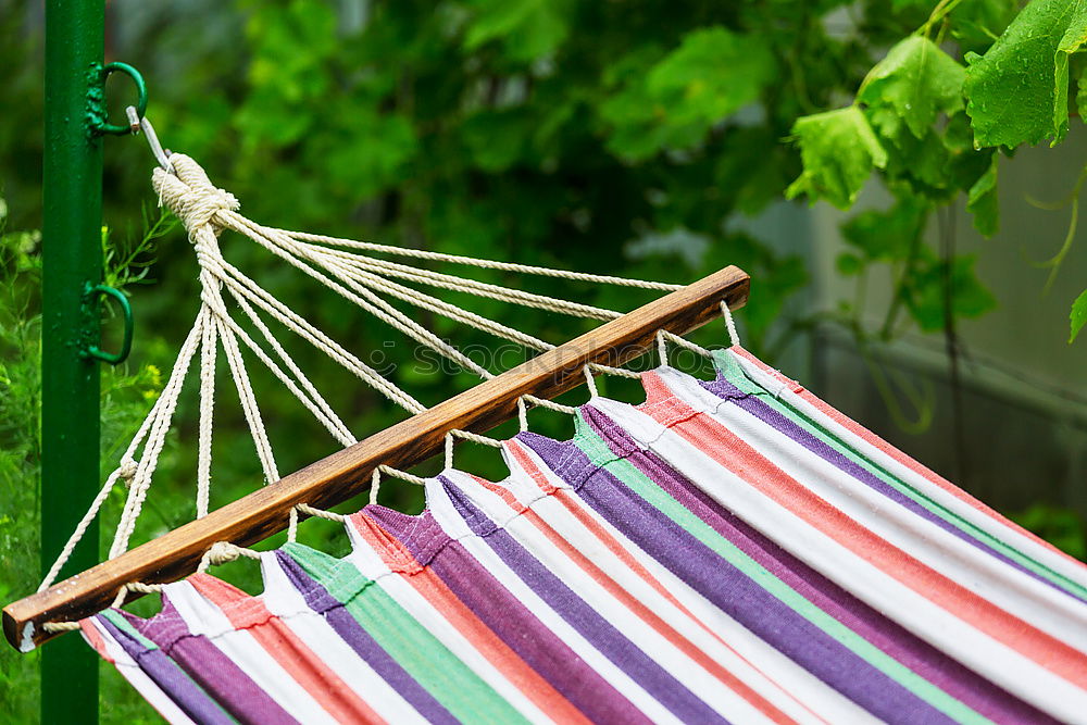
[(87, 641), (174, 723), (1087, 722), (1087, 568), (738, 348)]

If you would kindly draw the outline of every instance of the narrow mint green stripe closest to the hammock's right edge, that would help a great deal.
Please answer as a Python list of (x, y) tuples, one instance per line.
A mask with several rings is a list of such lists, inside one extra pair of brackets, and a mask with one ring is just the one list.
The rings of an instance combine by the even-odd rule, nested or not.
[(842, 454), (853, 463), (858, 464), (872, 475), (876, 476), (887, 485), (895, 488), (897, 491), (909, 497), (911, 500), (921, 504), (935, 515), (939, 516), (947, 523), (961, 529), (966, 535), (976, 539), (977, 541), (984, 543), (985, 546), (994, 549), (1001, 554), (1008, 557), (1012, 561), (1023, 565), (1024, 567), (1030, 570), (1038, 576), (1045, 578), (1062, 590), (1071, 593), (1074, 597), (1078, 597), (1087, 601), (1087, 587), (1084, 587), (1078, 582), (1070, 579), (1060, 572), (1055, 572), (1046, 564), (1037, 561), (1030, 555), (1020, 551), (1014, 546), (1002, 541), (995, 535), (986, 532), (985, 529), (978, 527), (977, 525), (971, 523), (966, 518), (962, 517), (954, 511), (951, 511), (944, 504), (935, 501), (928, 497), (923, 491), (919, 490), (914, 486), (905, 483), (904, 480), (898, 478), (889, 471), (883, 468), (882, 466), (873, 463), (867, 458), (863, 457), (855, 449), (849, 446), (844, 439), (836, 436), (829, 429), (821, 425), (816, 420), (807, 415), (802, 411), (789, 405), (787, 402), (783, 401), (777, 396), (773, 395), (758, 383), (748, 377), (747, 373), (740, 366), (740, 364), (729, 354), (724, 351), (716, 350), (713, 353), (713, 361), (717, 370), (721, 372), (725, 378), (732, 383), (734, 386), (739, 388), (742, 392), (747, 392), (757, 396), (760, 402), (769, 405), (776, 412), (785, 415), (790, 421), (799, 425), (805, 432), (811, 434), (813, 437), (817, 438), (822, 442), (826, 443), (833, 448), (838, 453)]

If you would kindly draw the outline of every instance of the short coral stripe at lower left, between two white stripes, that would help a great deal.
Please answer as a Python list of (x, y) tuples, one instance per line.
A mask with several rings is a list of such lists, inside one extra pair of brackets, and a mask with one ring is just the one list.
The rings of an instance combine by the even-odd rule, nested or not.
[(248, 630), (337, 721), (385, 722), (260, 599), (207, 574), (193, 574), (188, 582), (223, 611), (235, 629)]

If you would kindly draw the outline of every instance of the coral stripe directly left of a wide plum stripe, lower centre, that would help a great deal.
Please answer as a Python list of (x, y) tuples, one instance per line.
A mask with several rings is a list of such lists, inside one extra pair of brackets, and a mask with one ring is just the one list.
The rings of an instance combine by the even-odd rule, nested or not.
[[(429, 567), (420, 564), (411, 552), (362, 513), (350, 517), (359, 536), (385, 564), (461, 633), (514, 687), (549, 717), (560, 723), (589, 723), (570, 700), (533, 670), (502, 638), (475, 615)], [(410, 560), (410, 561), (409, 561)]]

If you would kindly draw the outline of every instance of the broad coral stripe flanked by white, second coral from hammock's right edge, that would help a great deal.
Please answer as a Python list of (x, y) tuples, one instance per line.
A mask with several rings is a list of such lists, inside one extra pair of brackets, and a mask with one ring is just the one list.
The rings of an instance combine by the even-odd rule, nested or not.
[[(674, 397), (669, 402), (667, 414), (672, 417), (683, 403)], [(655, 413), (652, 405), (644, 410), (651, 415)], [(687, 416), (673, 422), (670, 427), (698, 450), (861, 559), (963, 622), (1019, 650), (1042, 667), (1079, 687), (1087, 687), (1087, 657), (890, 545), (786, 475), (713, 418), (689, 407), (687, 411)]]

